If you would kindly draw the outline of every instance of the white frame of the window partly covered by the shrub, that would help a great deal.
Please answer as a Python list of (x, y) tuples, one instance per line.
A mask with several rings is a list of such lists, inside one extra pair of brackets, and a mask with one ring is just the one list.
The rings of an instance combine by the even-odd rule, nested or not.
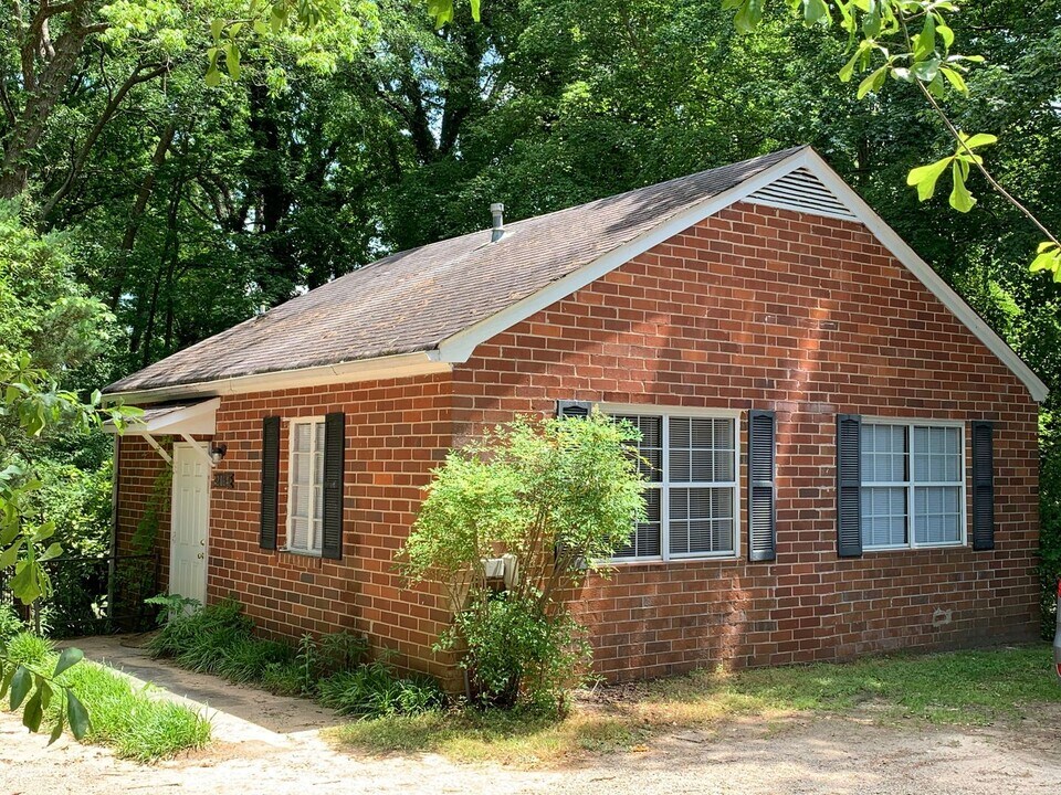
[[(662, 469), (663, 477), (658, 483), (648, 484), (648, 488), (660, 489), (660, 554), (640, 555), (637, 558), (612, 558), (609, 565), (623, 565), (627, 563), (669, 563), (671, 561), (698, 561), (698, 560), (737, 560), (740, 558), (740, 418), (743, 411), (735, 409), (687, 409), (682, 406), (656, 406), (638, 405), (627, 403), (598, 403), (597, 407), (605, 414), (612, 416), (635, 415), (635, 416), (658, 416), (663, 417), (663, 427), (661, 434), (662, 449)], [(733, 551), (722, 552), (671, 552), (671, 434), (670, 417), (692, 417), (696, 420), (733, 420), (733, 477), (732, 481), (718, 483), (677, 483), (677, 488), (732, 488), (733, 489)]]

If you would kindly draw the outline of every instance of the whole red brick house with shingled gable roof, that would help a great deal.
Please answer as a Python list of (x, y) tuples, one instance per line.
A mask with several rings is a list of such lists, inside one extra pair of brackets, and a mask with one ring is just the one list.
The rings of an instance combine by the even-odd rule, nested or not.
[(445, 677), (449, 605), (391, 569), (421, 487), (590, 404), (659, 465), (577, 594), (609, 678), (1037, 632), (1047, 389), (809, 148), (395, 254), (107, 392), (147, 410), (116, 548), (157, 508), (164, 584), (270, 634)]

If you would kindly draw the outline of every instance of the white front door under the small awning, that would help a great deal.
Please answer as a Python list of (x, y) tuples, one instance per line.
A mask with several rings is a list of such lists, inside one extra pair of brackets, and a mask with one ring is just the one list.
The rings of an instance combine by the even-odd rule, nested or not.
[(174, 501), (169, 541), (169, 593), (204, 603), (210, 466), (190, 444), (174, 445)]

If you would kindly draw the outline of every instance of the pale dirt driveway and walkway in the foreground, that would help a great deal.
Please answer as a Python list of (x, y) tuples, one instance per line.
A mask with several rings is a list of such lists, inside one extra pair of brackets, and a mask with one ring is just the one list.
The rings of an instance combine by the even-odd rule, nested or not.
[[(682, 731), (647, 750), (560, 770), (456, 765), (423, 754), (384, 759), (334, 750), (321, 729), (340, 722), (301, 699), (270, 696), (180, 671), (138, 649), (80, 643), (96, 659), (209, 703), (214, 742), (206, 751), (145, 767), (69, 739), (45, 748), (0, 713), (0, 794), (77, 792), (461, 793), (851, 793), (995, 795), (1061, 792), (1061, 709), (987, 729), (879, 725), (845, 718), (744, 721), (713, 733)], [(214, 711), (217, 710), (217, 711)]]

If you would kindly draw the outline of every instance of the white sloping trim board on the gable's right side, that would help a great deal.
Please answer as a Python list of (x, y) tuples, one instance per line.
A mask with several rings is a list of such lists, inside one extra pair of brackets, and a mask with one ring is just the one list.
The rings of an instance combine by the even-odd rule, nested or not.
[(1036, 375), (1030, 367), (1017, 356), (1017, 352), (987, 322), (976, 310), (973, 309), (965, 299), (943, 280), (943, 278), (933, 271), (924, 259), (917, 256), (917, 253), (899, 236), (899, 234), (889, 226), (884, 219), (874, 212), (847, 182), (840, 179), (839, 174), (830, 168), (818, 152), (813, 149), (807, 149), (800, 153), (803, 167), (811, 171), (822, 183), (831, 190), (838, 199), (847, 204), (859, 221), (861, 221), (870, 232), (872, 232), (881, 244), (887, 248), (892, 255), (899, 259), (906, 268), (916, 276), (928, 290), (939, 299), (939, 301), (950, 310), (950, 312), (960, 320), (973, 335), (980, 340), (988, 350), (1008, 367), (1012, 373), (1023, 382), (1028, 392), (1038, 403), (1042, 403), (1050, 394), (1050, 390)]

